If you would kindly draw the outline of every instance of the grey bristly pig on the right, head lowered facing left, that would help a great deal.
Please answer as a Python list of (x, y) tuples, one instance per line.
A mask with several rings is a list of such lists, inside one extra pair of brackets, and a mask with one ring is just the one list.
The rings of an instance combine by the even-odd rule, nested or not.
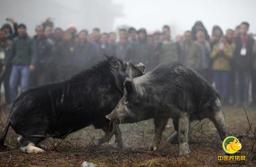
[(178, 62), (163, 63), (147, 74), (124, 82), (124, 96), (108, 115), (116, 123), (134, 123), (154, 118), (154, 137), (150, 150), (159, 147), (169, 118), (176, 130), (168, 141), (179, 143), (180, 155), (190, 153), (189, 122), (209, 118), (221, 139), (227, 127), (219, 95), (204, 78)]

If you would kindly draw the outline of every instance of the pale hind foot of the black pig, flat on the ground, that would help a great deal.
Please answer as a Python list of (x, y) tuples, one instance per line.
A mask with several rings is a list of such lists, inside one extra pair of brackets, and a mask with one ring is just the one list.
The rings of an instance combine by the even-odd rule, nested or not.
[(41, 136), (19, 137), (18, 141), (21, 143), (20, 149), (25, 153), (43, 153), (44, 150), (36, 147), (36, 145), (44, 140)]

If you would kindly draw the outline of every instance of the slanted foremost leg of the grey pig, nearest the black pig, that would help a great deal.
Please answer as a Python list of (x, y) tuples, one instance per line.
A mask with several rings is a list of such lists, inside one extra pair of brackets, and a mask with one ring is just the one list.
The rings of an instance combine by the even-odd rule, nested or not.
[(158, 149), (161, 142), (162, 133), (167, 125), (167, 122), (168, 118), (154, 118), (154, 137), (150, 144), (149, 150)]

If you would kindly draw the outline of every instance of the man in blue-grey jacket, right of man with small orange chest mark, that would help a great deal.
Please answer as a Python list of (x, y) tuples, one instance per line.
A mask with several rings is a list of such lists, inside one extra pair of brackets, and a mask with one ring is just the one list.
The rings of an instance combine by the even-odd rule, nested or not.
[(82, 30), (78, 34), (79, 42), (76, 44), (73, 59), (74, 72), (89, 68), (99, 59), (97, 46), (87, 40), (87, 35), (86, 30)]

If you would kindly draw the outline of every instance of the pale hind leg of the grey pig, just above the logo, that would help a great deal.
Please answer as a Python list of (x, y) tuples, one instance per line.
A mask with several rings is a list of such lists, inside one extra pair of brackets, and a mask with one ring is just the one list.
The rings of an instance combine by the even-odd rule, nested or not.
[(228, 128), (222, 109), (209, 113), (208, 118), (214, 123), (222, 141), (228, 137)]

